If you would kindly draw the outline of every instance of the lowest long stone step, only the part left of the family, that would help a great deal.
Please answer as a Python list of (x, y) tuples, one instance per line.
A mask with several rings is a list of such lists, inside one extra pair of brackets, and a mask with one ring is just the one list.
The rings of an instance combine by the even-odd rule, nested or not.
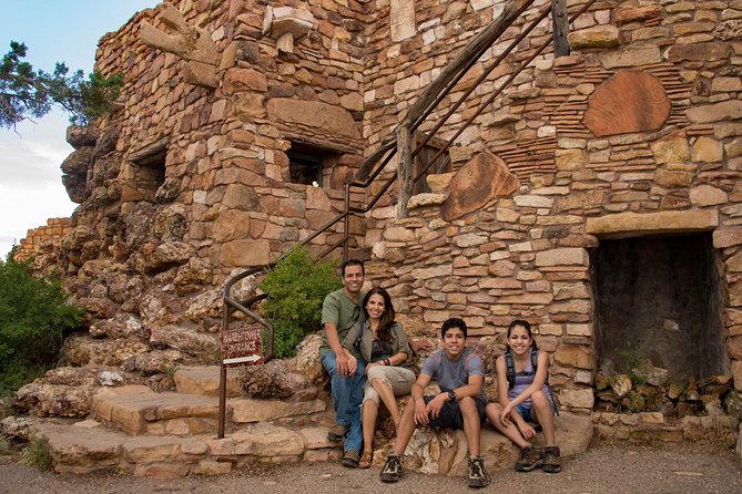
[(267, 423), (243, 426), (224, 439), (212, 434), (181, 438), (132, 438), (87, 420), (75, 424), (40, 424), (60, 473), (125, 472), (138, 476), (217, 475), (250, 462), (339, 461), (340, 450), (327, 441), (327, 428), (292, 431)]

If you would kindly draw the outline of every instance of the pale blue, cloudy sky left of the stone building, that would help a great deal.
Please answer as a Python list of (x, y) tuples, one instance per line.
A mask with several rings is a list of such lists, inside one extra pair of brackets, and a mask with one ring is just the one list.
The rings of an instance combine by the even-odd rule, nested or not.
[[(51, 72), (64, 62), (88, 75), (98, 41), (157, 0), (0, 0), (0, 56), (26, 43), (26, 61)], [(29, 229), (67, 217), (77, 204), (62, 185), (60, 165), (74, 151), (65, 141), (68, 115), (54, 110), (16, 131), (0, 128), (0, 258)]]

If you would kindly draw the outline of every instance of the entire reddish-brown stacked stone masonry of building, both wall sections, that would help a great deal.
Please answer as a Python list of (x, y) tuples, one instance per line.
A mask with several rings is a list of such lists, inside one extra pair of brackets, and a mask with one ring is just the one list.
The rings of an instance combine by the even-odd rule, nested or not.
[[(96, 52), (98, 70), (124, 72), (121, 110), (68, 134), (75, 152), (64, 183), (80, 207), (39, 265), (65, 272), (89, 309), (95, 339), (70, 340), (75, 366), (162, 375), (176, 362), (213, 361), (225, 279), (342, 212), (364, 156), (507, 2), (172, 3), (211, 34), (216, 55), (204, 73), (192, 53), (144, 44), (144, 21), (166, 28), (159, 9), (140, 12)], [(573, 12), (585, 1), (567, 3)], [(545, 4), (520, 16), (434, 117)], [(268, 7), (314, 19), (291, 52), (263, 32)], [(597, 370), (591, 250), (613, 237), (707, 233), (723, 266), (723, 338), (742, 391), (741, 19), (740, 0), (598, 1), (571, 24), (569, 56), (548, 48), (516, 74), (551, 37), (550, 18), (520, 41), (436, 134), (454, 136), (515, 75), (455, 140), (450, 185), (414, 196), (408, 218), (397, 218), (390, 189), (350, 220), (354, 255), (370, 257), (367, 274), (390, 289), (406, 328), (435, 337), (463, 316), (472, 336), (502, 344), (507, 323), (526, 318), (551, 353), (562, 405), (587, 411)], [(327, 153), (317, 186), (291, 182), (292, 146)], [(343, 234), (339, 223), (312, 249)]]

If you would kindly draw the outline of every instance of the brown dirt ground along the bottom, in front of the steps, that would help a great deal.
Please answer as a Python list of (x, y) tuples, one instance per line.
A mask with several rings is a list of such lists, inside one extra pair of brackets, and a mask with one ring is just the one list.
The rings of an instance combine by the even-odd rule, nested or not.
[[(39, 472), (0, 460), (0, 493), (440, 493), (466, 490), (463, 477), (407, 473), (397, 484), (378, 480), (378, 469), (349, 470), (338, 464), (297, 464), (235, 471), (216, 477), (176, 480), (128, 475), (85, 476)], [(631, 445), (597, 443), (562, 460), (562, 472), (491, 472), (484, 492), (527, 493), (734, 493), (742, 492), (742, 463), (731, 450), (714, 445)]]

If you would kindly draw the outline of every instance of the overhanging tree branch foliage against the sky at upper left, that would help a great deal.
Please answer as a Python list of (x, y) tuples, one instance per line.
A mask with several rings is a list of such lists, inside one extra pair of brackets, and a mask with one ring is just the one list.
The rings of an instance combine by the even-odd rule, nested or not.
[(13, 128), (24, 120), (44, 116), (53, 105), (70, 114), (70, 123), (88, 125), (110, 113), (123, 86), (123, 73), (104, 78), (93, 72), (85, 80), (81, 70), (70, 73), (64, 63), (54, 71), (34, 71), (24, 61), (26, 44), (10, 42), (0, 62), (0, 127)]

